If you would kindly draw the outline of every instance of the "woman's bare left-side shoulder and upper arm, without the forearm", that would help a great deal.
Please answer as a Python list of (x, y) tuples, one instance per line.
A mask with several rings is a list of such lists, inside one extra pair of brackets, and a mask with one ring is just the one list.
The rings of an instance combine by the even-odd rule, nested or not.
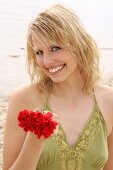
[(7, 161), (11, 163), (16, 160), (27, 135), (18, 126), (19, 112), (24, 109), (34, 110), (41, 101), (41, 93), (31, 84), (16, 89), (11, 95), (4, 130), (4, 165)]

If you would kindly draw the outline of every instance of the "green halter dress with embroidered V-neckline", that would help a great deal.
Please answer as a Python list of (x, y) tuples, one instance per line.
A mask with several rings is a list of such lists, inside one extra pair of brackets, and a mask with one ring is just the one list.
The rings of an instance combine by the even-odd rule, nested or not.
[[(48, 104), (44, 110), (50, 110)], [(103, 170), (108, 159), (107, 127), (95, 99), (94, 109), (73, 146), (59, 123), (43, 148), (36, 170)]]

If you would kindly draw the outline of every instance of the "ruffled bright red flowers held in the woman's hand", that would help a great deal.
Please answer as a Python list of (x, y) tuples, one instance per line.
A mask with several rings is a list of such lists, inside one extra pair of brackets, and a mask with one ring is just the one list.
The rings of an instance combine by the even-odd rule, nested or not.
[(42, 113), (39, 111), (23, 110), (18, 115), (18, 125), (25, 132), (34, 133), (39, 139), (41, 136), (48, 138), (54, 133), (58, 123), (52, 120), (51, 112)]

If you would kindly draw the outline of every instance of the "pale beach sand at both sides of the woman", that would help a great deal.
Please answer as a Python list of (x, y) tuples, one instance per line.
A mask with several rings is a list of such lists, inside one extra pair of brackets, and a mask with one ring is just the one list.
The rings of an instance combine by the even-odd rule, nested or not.
[[(113, 77), (110, 79), (103, 79), (103, 83), (113, 87)], [(3, 162), (3, 135), (4, 125), (7, 115), (7, 108), (9, 103), (9, 97), (2, 97), (0, 100), (0, 170), (2, 170)]]

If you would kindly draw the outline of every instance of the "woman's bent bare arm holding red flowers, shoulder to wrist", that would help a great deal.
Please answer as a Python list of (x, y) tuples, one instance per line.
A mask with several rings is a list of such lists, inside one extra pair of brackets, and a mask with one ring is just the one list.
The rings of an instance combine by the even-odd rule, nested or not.
[(17, 115), (25, 108), (34, 109), (34, 98), (28, 92), (18, 91), (13, 95), (7, 114), (3, 147), (3, 170), (35, 170), (45, 139), (38, 140), (32, 133), (18, 127)]

